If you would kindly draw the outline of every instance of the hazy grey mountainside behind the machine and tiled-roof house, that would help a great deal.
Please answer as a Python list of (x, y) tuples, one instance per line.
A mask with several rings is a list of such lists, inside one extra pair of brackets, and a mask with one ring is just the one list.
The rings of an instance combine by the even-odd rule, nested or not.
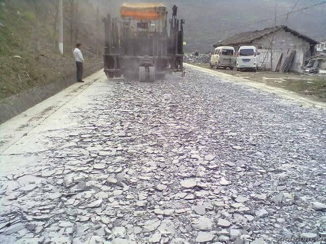
[[(148, 0), (103, 0), (118, 16), (123, 2), (153, 2)], [(110, 4), (107, 6), (107, 3)], [(290, 28), (315, 39), (326, 39), (326, 1), (323, 0), (155, 0), (164, 3), (171, 14), (172, 5), (178, 6), (180, 18), (184, 18), (187, 48), (209, 51), (212, 43), (241, 32), (254, 31), (287, 24)], [(312, 5), (324, 3), (310, 8)], [(275, 9), (276, 6), (276, 9)], [(295, 8), (293, 9), (293, 7)], [(301, 10), (308, 7), (307, 10)], [(293, 9), (286, 21), (286, 13)], [(299, 12), (296, 12), (299, 11)], [(270, 19), (266, 21), (266, 19)], [(265, 21), (264, 21), (265, 20)], [(207, 50), (206, 50), (207, 49)]]

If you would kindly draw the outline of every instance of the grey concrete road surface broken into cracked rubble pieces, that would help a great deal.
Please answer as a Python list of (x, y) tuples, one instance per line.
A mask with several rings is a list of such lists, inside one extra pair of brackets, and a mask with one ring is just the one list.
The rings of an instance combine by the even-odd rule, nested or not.
[(0, 243), (325, 238), (325, 110), (193, 68), (86, 81), (0, 126)]

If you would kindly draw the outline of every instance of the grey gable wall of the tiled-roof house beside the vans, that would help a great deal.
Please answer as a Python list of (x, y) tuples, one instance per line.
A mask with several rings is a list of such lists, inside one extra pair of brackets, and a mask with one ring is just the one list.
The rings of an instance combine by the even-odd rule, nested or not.
[[(255, 46), (260, 55), (258, 57), (259, 67), (262, 66), (264, 69), (270, 70), (270, 50), (268, 50), (271, 40), (273, 39), (273, 34), (270, 34), (266, 37), (253, 41), (252, 45)], [(310, 44), (306, 40), (292, 35), (290, 32), (285, 32), (284, 29), (281, 29), (279, 32), (275, 33), (273, 40), (273, 67), (277, 65), (277, 57), (283, 53), (282, 63), (287, 52), (290, 49), (296, 50), (294, 60), (289, 70), (292, 72), (302, 72), (301, 67), (304, 65), (306, 57), (311, 55), (310, 53)], [(268, 51), (268, 53), (267, 53)], [(267, 53), (267, 56), (266, 56)], [(265, 58), (266, 56), (266, 58)], [(263, 59), (264, 63), (263, 63)]]

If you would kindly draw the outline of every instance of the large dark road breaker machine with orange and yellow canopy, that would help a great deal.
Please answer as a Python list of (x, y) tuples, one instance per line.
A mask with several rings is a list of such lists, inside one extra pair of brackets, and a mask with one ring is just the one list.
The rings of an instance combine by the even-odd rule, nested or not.
[(163, 4), (123, 4), (120, 20), (107, 15), (104, 72), (121, 77), (154, 81), (169, 71), (183, 69), (183, 24), (172, 8), (170, 36), (168, 11)]

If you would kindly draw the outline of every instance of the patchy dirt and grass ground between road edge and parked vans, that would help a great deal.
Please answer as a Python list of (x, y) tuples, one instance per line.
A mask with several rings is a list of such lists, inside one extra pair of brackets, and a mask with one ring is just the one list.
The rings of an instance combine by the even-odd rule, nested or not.
[[(209, 64), (193, 64), (202, 68), (209, 68)], [(212, 70), (215, 70), (213, 68)], [(268, 86), (275, 86), (291, 90), (302, 96), (310, 97), (319, 102), (326, 102), (326, 75), (307, 75), (296, 73), (279, 73), (268, 71), (243, 71), (229, 69), (218, 69), (218, 72), (223, 72), (236, 77), (248, 79), (259, 83), (265, 83)]]

